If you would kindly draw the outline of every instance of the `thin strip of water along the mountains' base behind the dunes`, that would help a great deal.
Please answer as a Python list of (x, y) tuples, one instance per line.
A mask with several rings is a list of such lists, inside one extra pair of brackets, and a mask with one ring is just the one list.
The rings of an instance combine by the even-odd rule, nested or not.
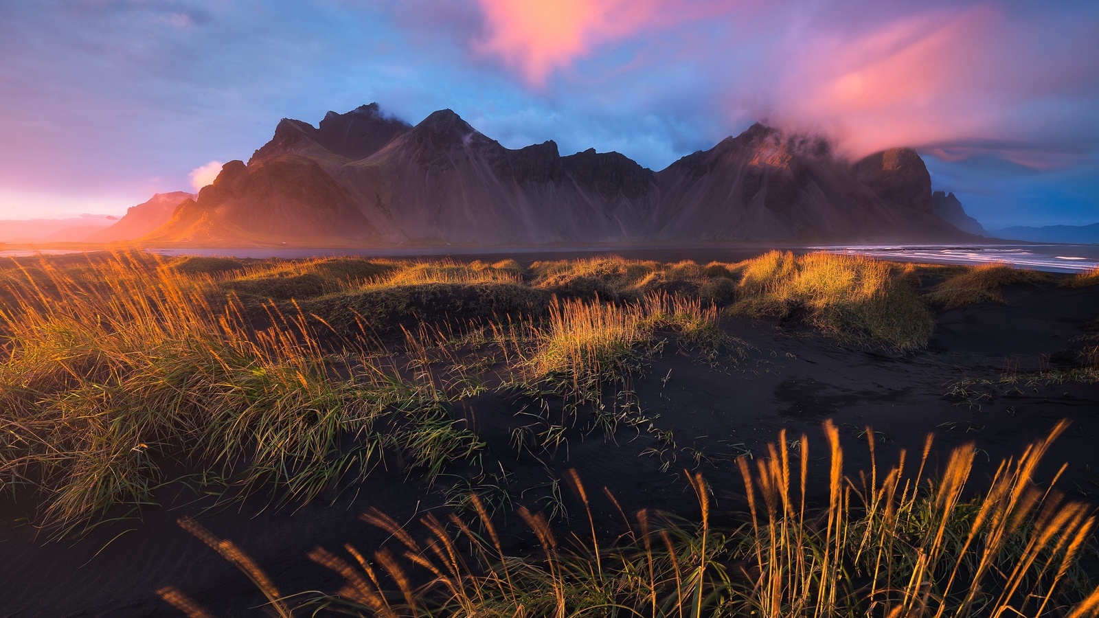
[[(520, 262), (562, 260), (614, 253), (630, 258), (660, 260), (666, 262), (693, 260), (696, 262), (735, 262), (770, 249), (762, 244), (708, 244), (708, 245), (589, 245), (568, 247), (514, 246), (514, 247), (386, 247), (386, 249), (159, 249), (147, 250), (159, 255), (219, 255), (232, 257), (442, 257), (502, 258), (515, 257)], [(928, 262), (935, 264), (984, 264), (1000, 262), (1019, 268), (1033, 268), (1051, 273), (1076, 273), (1099, 266), (1099, 245), (1096, 244), (1000, 244), (970, 246), (934, 245), (821, 245), (781, 246), (796, 252), (831, 251), (835, 253), (869, 255), (882, 260)], [(78, 253), (64, 250), (0, 251), (0, 257), (30, 255), (59, 255)]]

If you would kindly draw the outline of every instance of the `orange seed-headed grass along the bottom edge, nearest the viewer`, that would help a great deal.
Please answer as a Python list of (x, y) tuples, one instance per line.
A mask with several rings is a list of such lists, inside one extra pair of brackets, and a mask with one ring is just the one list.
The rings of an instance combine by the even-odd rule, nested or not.
[[(525, 555), (502, 542), (476, 496), (473, 522), (423, 517), (426, 539), (371, 510), (364, 519), (396, 551), (313, 550), (310, 559), (344, 578), (331, 594), (285, 596), (231, 541), (193, 520), (180, 525), (244, 571), (280, 616), (326, 608), (390, 618), (1085, 618), (1099, 611), (1092, 507), (1036, 484), (1039, 464), (1064, 429), (1003, 461), (979, 492), (970, 479), (972, 444), (955, 449), (937, 475), (929, 437), (922, 457), (902, 452), (888, 470), (845, 476), (839, 431), (828, 421), (828, 484), (811, 487), (808, 440), (780, 433), (766, 457), (739, 460), (747, 507), (732, 527), (712, 523), (710, 488), (701, 475), (688, 475), (697, 520), (648, 510), (626, 516), (604, 490), (623, 521), (617, 536), (601, 533), (592, 518), (598, 497), (574, 473), (587, 520), (581, 516), (566, 536), (543, 514), (520, 508), (533, 541)], [(868, 445), (873, 452), (873, 438)], [(823, 504), (807, 500), (822, 493)], [(176, 588), (159, 594), (191, 615), (201, 610)]]

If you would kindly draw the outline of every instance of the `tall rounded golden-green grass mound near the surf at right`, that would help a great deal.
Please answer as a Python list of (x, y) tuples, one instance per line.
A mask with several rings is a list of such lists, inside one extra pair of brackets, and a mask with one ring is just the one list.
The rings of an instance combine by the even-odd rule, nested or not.
[(909, 266), (771, 251), (742, 267), (735, 313), (803, 319), (840, 341), (898, 351), (923, 347), (931, 336), (934, 323)]

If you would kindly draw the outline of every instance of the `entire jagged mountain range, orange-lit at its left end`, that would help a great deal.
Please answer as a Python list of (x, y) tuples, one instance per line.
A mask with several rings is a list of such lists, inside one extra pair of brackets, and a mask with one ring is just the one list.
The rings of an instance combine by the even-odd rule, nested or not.
[(753, 125), (660, 172), (619, 153), (506, 148), (451, 110), (415, 126), (377, 104), (284, 119), (149, 242), (413, 244), (970, 239), (933, 211), (919, 155), (855, 164)]

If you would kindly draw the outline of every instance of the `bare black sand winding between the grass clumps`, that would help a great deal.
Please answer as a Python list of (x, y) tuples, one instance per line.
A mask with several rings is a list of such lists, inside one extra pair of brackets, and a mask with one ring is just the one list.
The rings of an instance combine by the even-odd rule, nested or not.
[[(824, 419), (841, 428), (848, 474), (869, 464), (864, 428), (872, 426), (877, 457), (884, 463), (895, 462), (901, 449), (918, 454), (929, 432), (935, 433), (933, 463), (943, 463), (951, 448), (975, 442), (979, 451), (974, 478), (983, 479), (1001, 459), (1067, 418), (1073, 426), (1053, 449), (1045, 477), (1067, 463), (1058, 483), (1062, 490), (1096, 500), (1099, 385), (1024, 378), (1078, 362), (1080, 338), (1094, 332), (1099, 318), (1099, 286), (1065, 289), (1043, 284), (1010, 288), (1004, 296), (1007, 305), (937, 311), (929, 349), (906, 355), (841, 347), (800, 327), (726, 318), (723, 328), (753, 346), (747, 358), (708, 364), (669, 344), (632, 380), (640, 407), (657, 427), (671, 431), (674, 445), (630, 428), (620, 428), (613, 440), (573, 430), (555, 455), (543, 457), (547, 468), (529, 455), (517, 460), (509, 445), (509, 428), (529, 402), (481, 395), (465, 400), (454, 413), (468, 418), (488, 442), (486, 462), (498, 465), (501, 478), (514, 488), (512, 505), (535, 510), (548, 504), (547, 492), (539, 486), (571, 467), (590, 494), (608, 487), (628, 514), (658, 508), (691, 516), (697, 507), (682, 474), (689, 468), (712, 484), (721, 522), (734, 523), (741, 494), (734, 459), (762, 456), (782, 429), (790, 437), (803, 432), (811, 439), (812, 476), (823, 477)], [(344, 543), (375, 550), (387, 536), (359, 521), (364, 510), (378, 508), (410, 522), (415, 532), (418, 516), (442, 501), (421, 482), (384, 471), (298, 509), (265, 508), (263, 500), (252, 498), (203, 512), (210, 497), (174, 487), (162, 490), (163, 506), (144, 509), (140, 520), (108, 522), (82, 539), (48, 542), (35, 528), (21, 525), (31, 501), (30, 496), (18, 498), (0, 503), (0, 615), (25, 617), (175, 616), (155, 595), (167, 585), (218, 616), (256, 615), (263, 595), (181, 530), (178, 517), (193, 516), (214, 534), (235, 541), (284, 594), (332, 592), (340, 577), (310, 562), (309, 550), (338, 550)], [(619, 519), (613, 507), (599, 496), (595, 503), (602, 510), (601, 525), (613, 528)], [(581, 521), (582, 507), (567, 489), (565, 506), (574, 523)], [(506, 549), (523, 551), (533, 539), (521, 533), (519, 518), (508, 510), (498, 516), (510, 534)]]

